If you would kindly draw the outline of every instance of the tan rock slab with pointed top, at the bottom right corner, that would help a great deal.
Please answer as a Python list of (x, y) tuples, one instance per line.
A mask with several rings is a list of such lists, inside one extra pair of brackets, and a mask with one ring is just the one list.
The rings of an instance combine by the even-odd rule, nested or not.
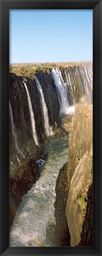
[[(87, 198), (88, 191), (92, 184), (92, 168), (93, 168), (93, 151), (87, 151), (83, 157), (81, 157), (79, 164), (74, 171), (74, 175), (70, 182), (69, 195), (66, 205), (66, 218), (70, 232), (70, 246), (92, 246), (92, 226), (91, 222), (86, 222), (84, 225), (84, 235), (81, 241), (81, 232), (83, 229), (83, 222), (86, 218), (87, 211)], [(91, 218), (93, 216), (91, 215)], [(90, 212), (87, 216), (90, 218)], [(86, 218), (86, 219), (87, 219)], [(87, 226), (89, 225), (89, 232), (86, 234)], [(89, 244), (89, 237), (91, 237), (91, 243)]]

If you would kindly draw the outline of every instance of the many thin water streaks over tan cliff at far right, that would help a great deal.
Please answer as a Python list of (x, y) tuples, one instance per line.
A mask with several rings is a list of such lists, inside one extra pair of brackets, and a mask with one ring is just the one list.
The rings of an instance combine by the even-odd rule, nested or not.
[(61, 68), (64, 83), (67, 84), (69, 105), (79, 102), (82, 95), (91, 95), (93, 87), (92, 67)]

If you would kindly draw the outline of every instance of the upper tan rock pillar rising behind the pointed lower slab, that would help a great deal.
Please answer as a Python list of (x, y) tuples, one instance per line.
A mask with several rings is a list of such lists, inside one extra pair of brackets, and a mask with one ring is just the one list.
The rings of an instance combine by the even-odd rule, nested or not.
[(76, 114), (66, 128), (69, 131), (69, 161), (67, 166), (68, 183), (76, 170), (81, 157), (90, 151), (93, 143), (93, 106), (76, 105)]

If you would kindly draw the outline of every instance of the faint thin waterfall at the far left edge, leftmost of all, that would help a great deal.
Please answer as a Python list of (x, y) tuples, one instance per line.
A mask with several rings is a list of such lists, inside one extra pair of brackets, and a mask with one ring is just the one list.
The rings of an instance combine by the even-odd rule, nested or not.
[[(16, 151), (18, 153), (20, 153), (22, 155), (22, 157), (25, 158), (25, 155), (23, 155), (22, 151), (19, 150), (18, 143), (17, 143), (17, 140), (16, 140), (15, 125), (13, 123), (13, 115), (12, 115), (12, 108), (11, 108), (11, 102), (10, 101), (9, 101), (9, 110), (10, 110), (10, 118), (11, 118), (11, 129), (12, 129), (12, 134), (13, 134), (13, 138), (14, 138), (14, 141), (15, 141)], [(18, 161), (19, 161), (19, 158), (18, 158)], [(19, 161), (19, 163), (20, 163), (20, 161)]]

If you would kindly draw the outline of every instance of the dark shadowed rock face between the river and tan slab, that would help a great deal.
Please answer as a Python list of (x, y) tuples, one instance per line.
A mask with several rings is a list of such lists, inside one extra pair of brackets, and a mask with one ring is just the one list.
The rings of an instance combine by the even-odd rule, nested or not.
[(56, 229), (54, 235), (55, 246), (69, 247), (70, 234), (66, 219), (66, 203), (68, 196), (67, 163), (59, 171), (56, 182), (55, 218)]

